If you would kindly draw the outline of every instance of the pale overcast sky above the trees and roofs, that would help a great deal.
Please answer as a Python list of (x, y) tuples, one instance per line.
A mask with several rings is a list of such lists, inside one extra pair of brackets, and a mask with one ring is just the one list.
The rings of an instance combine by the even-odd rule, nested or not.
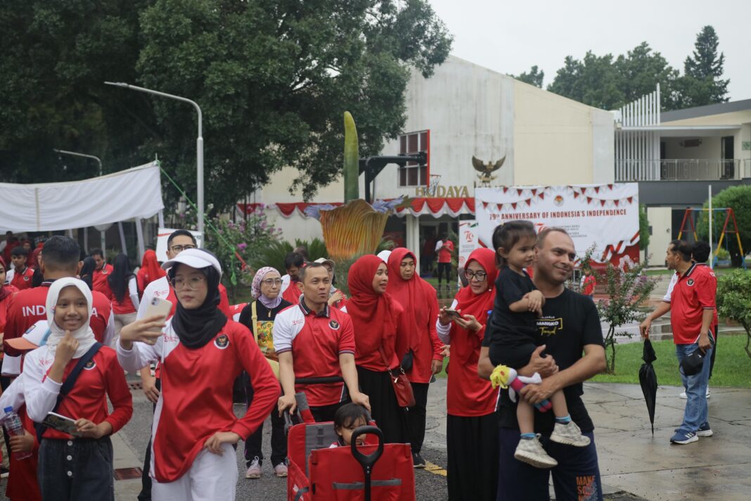
[(725, 53), (724, 78), (731, 101), (751, 98), (749, 0), (428, 0), (454, 35), (451, 53), (500, 73), (520, 74), (538, 65), (543, 88), (566, 56), (583, 59), (626, 54), (642, 41), (683, 74), (706, 25)]

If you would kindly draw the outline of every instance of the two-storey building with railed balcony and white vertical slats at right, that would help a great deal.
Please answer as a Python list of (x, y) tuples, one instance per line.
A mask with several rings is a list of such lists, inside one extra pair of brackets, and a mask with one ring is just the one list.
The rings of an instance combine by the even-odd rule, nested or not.
[(638, 181), (651, 230), (646, 254), (661, 264), (686, 208), (701, 207), (709, 186), (716, 195), (751, 184), (751, 99), (661, 113), (658, 86), (617, 113), (615, 179)]

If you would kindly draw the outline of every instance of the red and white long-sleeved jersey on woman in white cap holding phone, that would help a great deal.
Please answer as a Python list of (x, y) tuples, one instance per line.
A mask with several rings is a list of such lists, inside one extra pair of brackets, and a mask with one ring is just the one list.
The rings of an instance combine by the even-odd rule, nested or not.
[[(198, 349), (179, 342), (172, 322), (154, 346), (117, 344), (117, 358), (128, 372), (161, 362), (161, 394), (152, 425), (151, 475), (175, 481), (187, 472), (218, 431), (232, 431), (243, 440), (267, 418), (279, 398), (279, 382), (261, 350), (242, 324), (227, 321), (213, 340)], [(242, 418), (232, 409), (232, 384), (246, 370), (253, 401)]]

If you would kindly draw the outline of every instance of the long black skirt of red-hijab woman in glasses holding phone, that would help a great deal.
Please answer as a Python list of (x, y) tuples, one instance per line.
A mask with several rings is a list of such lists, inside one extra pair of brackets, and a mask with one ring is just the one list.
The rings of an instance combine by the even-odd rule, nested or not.
[(449, 501), (494, 501), (498, 489), (498, 418), (495, 413), (446, 418)]

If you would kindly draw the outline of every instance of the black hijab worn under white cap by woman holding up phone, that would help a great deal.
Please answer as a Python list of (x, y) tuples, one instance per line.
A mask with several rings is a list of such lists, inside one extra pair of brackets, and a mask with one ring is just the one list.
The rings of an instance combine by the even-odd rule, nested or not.
[[(176, 268), (179, 266), (182, 265), (178, 264), (170, 269), (170, 280), (174, 278)], [(209, 343), (227, 323), (227, 316), (217, 307), (219, 306), (219, 272), (210, 266), (201, 268), (201, 273), (206, 275), (207, 282), (204, 303), (195, 309), (185, 309), (178, 300), (175, 315), (172, 317), (172, 327), (180, 343), (189, 349), (199, 349)]]

